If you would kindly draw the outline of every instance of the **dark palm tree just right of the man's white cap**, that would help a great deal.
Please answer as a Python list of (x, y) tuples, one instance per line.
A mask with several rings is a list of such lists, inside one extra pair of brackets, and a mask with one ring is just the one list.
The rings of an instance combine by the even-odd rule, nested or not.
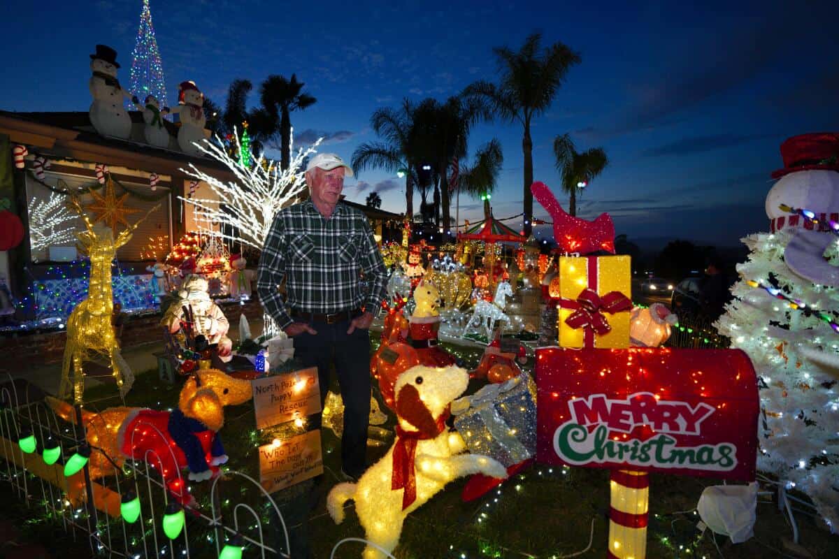
[[(384, 142), (364, 142), (352, 153), (356, 175), (368, 168), (382, 168), (405, 178), (405, 215), (414, 215), (414, 184), (419, 184), (417, 163), (410, 157), (414, 106), (405, 99), (398, 110), (382, 108), (370, 116), (370, 127)], [(420, 189), (425, 203), (425, 190)]]

